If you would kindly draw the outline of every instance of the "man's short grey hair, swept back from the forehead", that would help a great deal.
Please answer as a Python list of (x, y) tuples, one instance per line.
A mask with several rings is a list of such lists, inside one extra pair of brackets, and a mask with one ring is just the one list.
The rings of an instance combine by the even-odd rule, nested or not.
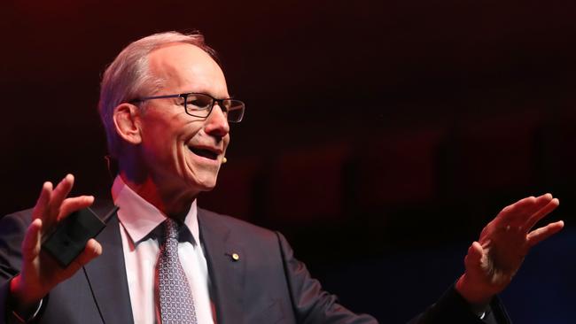
[(120, 150), (120, 140), (113, 123), (114, 108), (160, 88), (162, 81), (148, 69), (148, 54), (162, 45), (174, 42), (198, 46), (219, 63), (215, 51), (206, 45), (204, 35), (198, 31), (191, 34), (178, 32), (154, 34), (132, 42), (122, 50), (102, 76), (98, 103), (98, 112), (108, 141), (108, 151), (113, 158), (118, 158)]

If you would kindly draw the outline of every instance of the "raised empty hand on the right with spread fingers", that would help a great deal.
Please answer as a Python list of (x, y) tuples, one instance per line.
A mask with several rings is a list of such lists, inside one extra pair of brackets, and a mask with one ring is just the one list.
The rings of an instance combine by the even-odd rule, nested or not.
[(564, 222), (549, 223), (533, 230), (534, 225), (558, 206), (550, 194), (527, 197), (502, 209), (480, 234), (464, 258), (466, 272), (456, 282), (456, 290), (471, 305), (487, 305), (505, 289), (528, 251), (556, 234)]

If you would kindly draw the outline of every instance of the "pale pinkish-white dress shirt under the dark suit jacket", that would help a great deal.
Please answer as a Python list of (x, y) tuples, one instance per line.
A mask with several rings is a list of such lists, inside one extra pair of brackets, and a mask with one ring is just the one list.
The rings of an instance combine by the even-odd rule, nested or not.
[[(120, 176), (114, 180), (112, 196), (114, 204), (120, 207), (118, 219), (134, 322), (160, 323), (160, 308), (154, 298), (155, 268), (160, 246), (155, 235), (150, 234), (167, 216), (138, 196)], [(199, 240), (197, 215), (194, 200), (184, 220), (191, 237), (178, 243), (178, 256), (191, 286), (198, 323), (214, 323), (208, 292), (208, 267)]]

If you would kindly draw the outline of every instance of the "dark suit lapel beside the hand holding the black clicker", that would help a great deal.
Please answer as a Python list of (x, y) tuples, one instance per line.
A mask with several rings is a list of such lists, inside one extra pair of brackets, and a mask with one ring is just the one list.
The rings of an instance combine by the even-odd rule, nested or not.
[[(99, 213), (102, 214), (102, 213)], [(132, 323), (126, 266), (117, 215), (97, 235), (102, 255), (84, 266), (105, 323)]]

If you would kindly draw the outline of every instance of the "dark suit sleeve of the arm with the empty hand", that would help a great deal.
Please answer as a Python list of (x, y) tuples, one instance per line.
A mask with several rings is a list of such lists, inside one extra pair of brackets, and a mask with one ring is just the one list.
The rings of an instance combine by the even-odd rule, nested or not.
[[(313, 279), (306, 266), (294, 258), (292, 248), (284, 236), (276, 233), (284, 259), (284, 272), (289, 285), (292, 307), (299, 323), (378, 323), (370, 315), (355, 314), (339, 305), (338, 297), (322, 289), (320, 282)], [(484, 320), (471, 312), (469, 305), (450, 287), (440, 299), (425, 312), (416, 316), (409, 324), (508, 324), (510, 320), (498, 298), (490, 305)]]

